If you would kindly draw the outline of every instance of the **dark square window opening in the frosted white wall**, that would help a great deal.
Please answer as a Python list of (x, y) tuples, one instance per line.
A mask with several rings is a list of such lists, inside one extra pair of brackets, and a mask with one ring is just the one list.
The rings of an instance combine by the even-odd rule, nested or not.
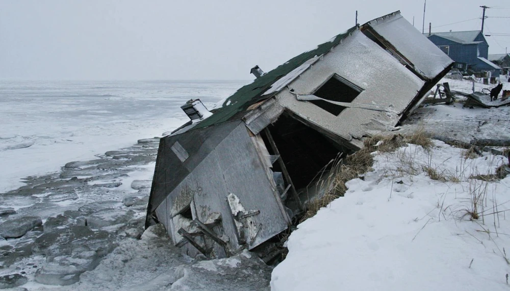
[[(334, 74), (328, 81), (326, 81), (326, 83), (319, 87), (313, 95), (326, 100), (350, 103), (358, 97), (362, 91), (362, 88), (354, 85), (345, 78)], [(345, 109), (345, 107), (341, 105), (333, 104), (325, 100), (312, 100), (310, 102), (337, 116)]]

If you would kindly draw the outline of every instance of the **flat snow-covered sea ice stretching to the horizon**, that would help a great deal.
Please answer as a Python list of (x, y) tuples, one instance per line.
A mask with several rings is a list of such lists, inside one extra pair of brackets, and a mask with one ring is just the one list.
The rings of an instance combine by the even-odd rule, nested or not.
[(207, 106), (247, 82), (4, 81), (0, 84), (0, 193), (20, 178), (57, 171), (70, 161), (161, 136), (188, 117), (180, 109)]

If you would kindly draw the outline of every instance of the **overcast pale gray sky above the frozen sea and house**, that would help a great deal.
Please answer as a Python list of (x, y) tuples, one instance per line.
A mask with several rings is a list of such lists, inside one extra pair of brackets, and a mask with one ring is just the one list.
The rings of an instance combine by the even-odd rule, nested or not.
[[(508, 0), (428, 0), (426, 30), (479, 30), (480, 5), (498, 7), (486, 33), (510, 34), (496, 18)], [(356, 10), (360, 23), (400, 10), (422, 29), (422, 0), (0, 0), (0, 78), (248, 80), (352, 27)], [(510, 48), (510, 36), (487, 39), (490, 54)]]

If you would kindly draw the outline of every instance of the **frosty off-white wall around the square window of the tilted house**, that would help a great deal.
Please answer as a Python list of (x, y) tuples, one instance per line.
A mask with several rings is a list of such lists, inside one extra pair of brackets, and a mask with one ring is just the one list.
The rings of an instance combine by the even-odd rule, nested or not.
[[(313, 103), (299, 101), (295, 94), (309, 95), (333, 74), (338, 74), (364, 90), (353, 102), (380, 105), (393, 113), (347, 108), (335, 116)], [(294, 113), (307, 118), (346, 140), (361, 138), (373, 130), (385, 130), (398, 122), (398, 115), (424, 85), (410, 70), (360, 31), (323, 56), (277, 94), (277, 101)], [(361, 142), (353, 141), (361, 146)]]

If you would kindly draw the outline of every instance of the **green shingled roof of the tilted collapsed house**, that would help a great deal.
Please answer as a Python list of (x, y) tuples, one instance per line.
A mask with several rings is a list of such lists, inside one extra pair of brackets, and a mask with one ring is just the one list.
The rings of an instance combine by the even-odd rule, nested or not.
[[(246, 109), (248, 109), (250, 105), (267, 99), (277, 93), (274, 92), (273, 94), (262, 96), (262, 94), (271, 88), (271, 85), (278, 81), (279, 78), (290, 73), (292, 70), (313, 57), (325, 54), (357, 28), (358, 27), (352, 27), (346, 32), (337, 35), (332, 41), (320, 44), (313, 50), (303, 52), (301, 55), (290, 59), (285, 64), (276, 67), (274, 70), (267, 72), (263, 76), (260, 76), (254, 80), (253, 83), (237, 90), (234, 95), (225, 100), (222, 108), (215, 111), (211, 117), (198, 123), (192, 128), (192, 130), (243, 117)], [(230, 103), (228, 103), (229, 101)], [(227, 103), (228, 105), (226, 105)]]

